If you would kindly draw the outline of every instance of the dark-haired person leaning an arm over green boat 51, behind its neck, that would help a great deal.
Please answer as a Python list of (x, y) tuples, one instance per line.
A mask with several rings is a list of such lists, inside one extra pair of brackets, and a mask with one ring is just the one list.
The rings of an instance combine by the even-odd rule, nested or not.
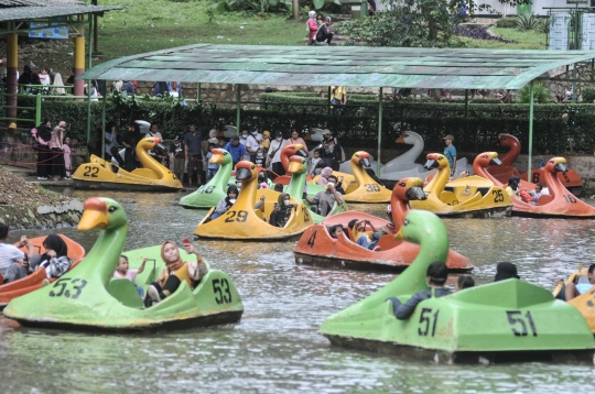
[(444, 287), (446, 278), (448, 277), (448, 270), (446, 264), (435, 262), (430, 264), (426, 271), (426, 283), (430, 286), (428, 291), (420, 291), (411, 296), (404, 304), (402, 304), (397, 297), (389, 297), (387, 300), (392, 303), (392, 311), (394, 317), (399, 320), (407, 320), (415, 311), (415, 307), (419, 303), (431, 297), (444, 297), (452, 293), (450, 288)]

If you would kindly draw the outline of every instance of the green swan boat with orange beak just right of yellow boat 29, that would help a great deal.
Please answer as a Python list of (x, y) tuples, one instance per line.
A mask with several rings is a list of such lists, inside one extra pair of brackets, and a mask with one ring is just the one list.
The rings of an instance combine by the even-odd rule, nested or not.
[[(291, 156), (290, 163), (289, 163), (289, 172), (291, 173), (291, 180), (285, 188), (285, 193), (288, 193), (291, 197), (295, 198), (298, 201), (302, 203), (310, 209), (310, 216), (312, 217), (312, 221), (314, 225), (320, 225), (323, 222), (324, 219), (326, 219), (326, 216), (321, 216), (312, 210), (312, 207), (310, 203), (305, 199), (303, 199), (304, 195), (304, 185), (306, 183), (307, 177), (307, 162), (302, 156)], [(316, 187), (314, 187), (316, 186)], [(307, 185), (307, 190), (311, 191), (311, 188), (314, 190), (326, 190), (326, 187), (317, 186), (310, 184)], [(316, 193), (318, 193), (316, 191)], [(310, 196), (310, 195), (309, 195)], [(311, 198), (314, 198), (316, 194), (313, 196), (310, 196)], [(328, 214), (328, 216), (345, 212), (347, 210), (347, 203), (343, 200), (342, 204), (335, 203), (333, 205), (333, 209)]]

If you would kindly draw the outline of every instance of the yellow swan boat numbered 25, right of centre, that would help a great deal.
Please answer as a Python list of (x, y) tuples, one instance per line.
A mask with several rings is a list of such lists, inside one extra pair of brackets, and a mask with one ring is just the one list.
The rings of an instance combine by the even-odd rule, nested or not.
[(511, 215), (512, 200), (504, 187), (476, 176), (459, 179), (456, 185), (446, 187), (451, 174), (448, 160), (440, 153), (430, 153), (426, 158), (425, 167), (437, 168), (437, 173), (423, 188), (428, 199), (410, 201), (411, 208), (452, 218), (501, 218)]

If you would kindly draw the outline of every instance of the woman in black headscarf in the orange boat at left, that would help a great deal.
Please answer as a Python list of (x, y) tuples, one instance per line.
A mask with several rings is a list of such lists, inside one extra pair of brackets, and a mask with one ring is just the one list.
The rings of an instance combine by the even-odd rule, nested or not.
[(45, 253), (35, 254), (31, 258), (29, 264), (32, 271), (45, 270), (46, 280), (42, 285), (47, 285), (52, 277), (60, 277), (68, 271), (72, 260), (68, 259), (68, 247), (60, 236), (50, 234), (43, 241)]

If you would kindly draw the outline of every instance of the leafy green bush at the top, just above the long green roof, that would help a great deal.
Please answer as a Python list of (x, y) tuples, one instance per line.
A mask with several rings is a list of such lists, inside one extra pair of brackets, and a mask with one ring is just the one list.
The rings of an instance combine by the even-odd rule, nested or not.
[(375, 18), (344, 23), (347, 45), (444, 47), (453, 37), (457, 0), (386, 0)]

